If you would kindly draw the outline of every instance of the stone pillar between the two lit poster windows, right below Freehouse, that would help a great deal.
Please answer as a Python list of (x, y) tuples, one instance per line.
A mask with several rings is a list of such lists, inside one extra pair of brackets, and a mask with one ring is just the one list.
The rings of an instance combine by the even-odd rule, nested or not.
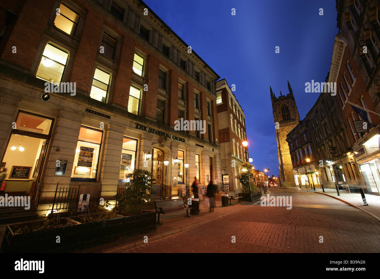
[(125, 128), (108, 124), (105, 135), (103, 135), (105, 145), (100, 163), (99, 198), (104, 198), (104, 200), (112, 200), (117, 193), (124, 131)]

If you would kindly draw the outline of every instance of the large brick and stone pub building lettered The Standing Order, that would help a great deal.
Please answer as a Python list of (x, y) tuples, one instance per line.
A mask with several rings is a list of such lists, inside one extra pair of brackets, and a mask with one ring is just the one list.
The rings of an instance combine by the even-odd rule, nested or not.
[[(136, 168), (170, 186), (171, 197), (195, 176), (201, 184), (222, 180), (219, 76), (142, 1), (2, 5), (7, 192), (39, 198), (43, 214), (57, 183), (81, 183), (80, 193), (112, 200)], [(195, 129), (174, 129), (181, 118)]]

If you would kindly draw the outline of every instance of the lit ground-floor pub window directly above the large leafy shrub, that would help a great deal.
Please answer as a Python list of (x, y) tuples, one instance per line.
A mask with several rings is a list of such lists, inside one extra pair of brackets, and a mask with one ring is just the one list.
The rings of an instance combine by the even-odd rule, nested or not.
[(137, 140), (129, 137), (123, 138), (123, 147), (120, 160), (119, 182), (130, 182), (128, 174), (135, 169)]

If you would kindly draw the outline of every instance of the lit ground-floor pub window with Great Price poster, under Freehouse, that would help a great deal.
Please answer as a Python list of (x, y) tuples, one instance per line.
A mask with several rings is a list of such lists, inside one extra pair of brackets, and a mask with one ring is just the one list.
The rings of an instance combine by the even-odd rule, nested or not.
[(71, 181), (96, 181), (102, 136), (100, 130), (81, 127)]

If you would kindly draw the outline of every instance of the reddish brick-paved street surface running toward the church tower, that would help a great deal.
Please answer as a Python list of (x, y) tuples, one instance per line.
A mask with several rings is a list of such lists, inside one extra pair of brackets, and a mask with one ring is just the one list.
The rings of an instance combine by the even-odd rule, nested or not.
[(245, 206), (122, 252), (380, 252), (380, 222), (363, 211), (297, 188), (270, 191), (275, 196), (291, 196), (291, 210), (260, 203)]

